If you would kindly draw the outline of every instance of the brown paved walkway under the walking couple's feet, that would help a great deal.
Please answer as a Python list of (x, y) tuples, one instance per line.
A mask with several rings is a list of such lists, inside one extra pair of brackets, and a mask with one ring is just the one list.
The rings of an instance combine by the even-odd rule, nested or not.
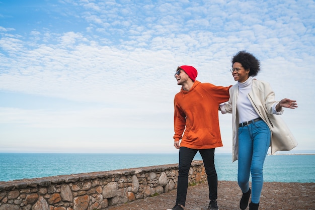
[[(185, 210), (200, 210), (209, 203), (208, 184), (188, 188)], [(235, 181), (218, 182), (218, 206), (220, 210), (240, 209), (242, 192)], [(109, 206), (106, 210), (165, 210), (172, 208), (176, 190), (154, 197)], [(249, 209), (249, 208), (247, 208)], [(259, 209), (315, 209), (315, 183), (264, 182)]]

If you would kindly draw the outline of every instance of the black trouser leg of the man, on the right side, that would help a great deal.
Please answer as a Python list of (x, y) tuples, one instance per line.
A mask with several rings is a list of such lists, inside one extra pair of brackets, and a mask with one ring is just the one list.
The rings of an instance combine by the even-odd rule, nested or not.
[(214, 166), (214, 150), (215, 148), (199, 150), (207, 174), (210, 200), (215, 200), (218, 197), (218, 177)]

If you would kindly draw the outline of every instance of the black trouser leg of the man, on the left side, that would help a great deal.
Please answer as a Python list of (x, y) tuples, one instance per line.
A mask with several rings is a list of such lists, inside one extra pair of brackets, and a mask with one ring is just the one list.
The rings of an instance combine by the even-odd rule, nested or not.
[(198, 150), (181, 147), (179, 149), (179, 167), (178, 167), (178, 182), (177, 182), (177, 197), (176, 203), (185, 206), (187, 188), (188, 188), (188, 173), (191, 162), (193, 161)]

